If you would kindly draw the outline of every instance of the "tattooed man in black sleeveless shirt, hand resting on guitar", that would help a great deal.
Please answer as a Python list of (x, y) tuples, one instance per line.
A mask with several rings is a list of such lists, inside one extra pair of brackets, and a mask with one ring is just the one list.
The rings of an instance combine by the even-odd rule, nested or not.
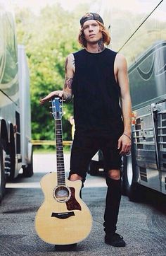
[[(67, 102), (74, 95), (75, 137), (70, 159), (70, 180), (84, 182), (91, 158), (101, 149), (108, 191), (104, 214), (105, 243), (124, 247), (115, 233), (121, 198), (121, 156), (131, 147), (131, 100), (127, 62), (122, 54), (105, 47), (110, 36), (97, 13), (80, 20), (83, 50), (68, 55), (63, 91), (53, 91)], [(121, 107), (120, 104), (121, 103)]]

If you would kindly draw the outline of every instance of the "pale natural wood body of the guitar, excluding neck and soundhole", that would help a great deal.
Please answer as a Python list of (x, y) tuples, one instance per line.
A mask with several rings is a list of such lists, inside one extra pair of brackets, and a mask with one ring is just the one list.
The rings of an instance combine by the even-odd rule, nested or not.
[(92, 226), (91, 212), (79, 197), (82, 182), (65, 180), (70, 191), (70, 199), (65, 202), (57, 201), (56, 184), (57, 173), (48, 173), (41, 179), (44, 202), (35, 218), (37, 234), (44, 242), (54, 245), (78, 243), (87, 238)]

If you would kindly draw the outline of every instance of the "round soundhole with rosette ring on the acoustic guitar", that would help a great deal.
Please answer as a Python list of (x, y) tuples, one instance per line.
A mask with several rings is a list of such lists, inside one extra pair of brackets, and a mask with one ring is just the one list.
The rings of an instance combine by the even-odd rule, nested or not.
[(58, 202), (67, 202), (71, 197), (71, 191), (69, 187), (58, 186), (53, 190), (53, 197)]

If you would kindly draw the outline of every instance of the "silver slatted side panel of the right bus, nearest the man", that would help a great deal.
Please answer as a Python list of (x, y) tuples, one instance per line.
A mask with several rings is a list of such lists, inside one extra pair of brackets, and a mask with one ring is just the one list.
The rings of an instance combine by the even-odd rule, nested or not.
[(132, 133), (139, 183), (160, 191), (157, 109), (154, 105), (147, 105), (136, 110), (135, 113), (136, 124)]

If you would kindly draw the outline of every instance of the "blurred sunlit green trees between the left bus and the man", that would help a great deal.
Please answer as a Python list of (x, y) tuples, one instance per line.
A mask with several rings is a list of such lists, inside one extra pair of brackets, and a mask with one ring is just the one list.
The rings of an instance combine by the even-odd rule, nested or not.
[[(51, 91), (63, 89), (65, 58), (80, 49), (77, 42), (79, 18), (86, 8), (79, 6), (75, 13), (69, 13), (56, 4), (42, 9), (39, 16), (28, 9), (15, 13), (18, 43), (26, 46), (30, 68), (32, 139), (54, 139), (50, 105), (39, 105), (39, 99)], [(72, 103), (65, 105), (63, 112), (63, 139), (70, 140), (68, 120), (73, 115)]]

